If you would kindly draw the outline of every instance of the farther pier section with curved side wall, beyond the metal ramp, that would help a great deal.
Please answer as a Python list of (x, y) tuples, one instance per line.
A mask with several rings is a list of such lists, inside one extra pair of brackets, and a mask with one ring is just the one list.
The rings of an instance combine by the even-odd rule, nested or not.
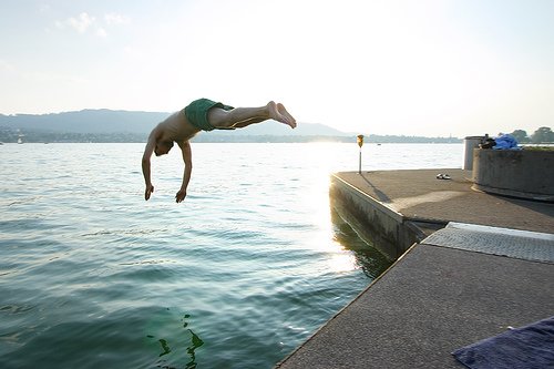
[(554, 233), (552, 203), (490, 195), (471, 178), (453, 168), (341, 172), (331, 176), (330, 194), (339, 215), (391, 259), (449, 222)]

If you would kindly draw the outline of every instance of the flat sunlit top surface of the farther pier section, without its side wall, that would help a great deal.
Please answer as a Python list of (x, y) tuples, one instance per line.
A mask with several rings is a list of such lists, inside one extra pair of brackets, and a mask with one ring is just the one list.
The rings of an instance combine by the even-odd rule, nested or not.
[[(451, 180), (437, 180), (448, 173)], [(410, 170), (340, 172), (336, 176), (404, 217), (406, 221), (471, 223), (554, 233), (554, 204), (472, 189), (472, 172)]]

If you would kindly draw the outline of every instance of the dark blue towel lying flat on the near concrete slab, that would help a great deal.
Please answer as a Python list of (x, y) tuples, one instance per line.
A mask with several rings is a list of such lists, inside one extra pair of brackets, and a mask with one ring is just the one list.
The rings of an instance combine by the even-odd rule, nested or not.
[(554, 317), (510, 329), (452, 355), (471, 369), (554, 368)]

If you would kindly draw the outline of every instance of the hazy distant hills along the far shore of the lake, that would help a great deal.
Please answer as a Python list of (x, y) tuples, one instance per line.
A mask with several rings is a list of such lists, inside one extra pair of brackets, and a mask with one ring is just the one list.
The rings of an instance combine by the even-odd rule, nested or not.
[[(107, 109), (55, 114), (0, 114), (0, 142), (145, 142), (152, 129), (171, 113)], [(291, 130), (277, 122), (253, 124), (237, 131), (198, 134), (195, 142), (356, 142), (358, 133), (318, 123), (299, 123)], [(367, 142), (461, 142), (455, 137), (368, 135)]]

